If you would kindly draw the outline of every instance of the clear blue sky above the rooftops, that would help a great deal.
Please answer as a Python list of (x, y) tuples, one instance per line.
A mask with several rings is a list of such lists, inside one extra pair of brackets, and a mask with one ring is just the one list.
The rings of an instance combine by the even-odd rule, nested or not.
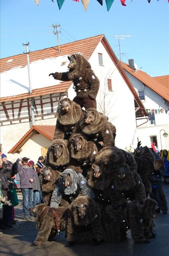
[(126, 4), (114, 0), (107, 12), (105, 0), (103, 6), (90, 0), (85, 12), (81, 0), (65, 0), (60, 11), (56, 0), (39, 0), (39, 6), (34, 0), (1, 0), (1, 58), (23, 53), (22, 43), (26, 42), (30, 42), (30, 51), (57, 45), (49, 26), (60, 23), (60, 44), (105, 34), (118, 58), (118, 40), (112, 35), (131, 35), (120, 40), (121, 60), (128, 63), (134, 59), (138, 68), (151, 76), (168, 75), (168, 0), (151, 0), (150, 4), (147, 0), (126, 0)]

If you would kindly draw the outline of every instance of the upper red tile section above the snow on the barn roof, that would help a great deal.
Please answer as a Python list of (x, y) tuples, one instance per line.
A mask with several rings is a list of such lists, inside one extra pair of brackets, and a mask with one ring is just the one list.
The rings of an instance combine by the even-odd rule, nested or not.
[[(46, 49), (34, 51), (29, 53), (30, 63), (37, 60), (44, 60), (52, 57), (58, 57), (62, 55), (71, 55), (75, 52), (81, 52), (86, 59), (89, 59), (95, 47), (104, 35), (93, 36), (86, 39), (78, 40), (68, 44), (60, 45), (61, 52), (58, 52), (58, 46), (49, 47)], [(11, 60), (8, 62), (8, 60)], [(0, 60), (0, 72), (10, 70), (19, 66), (25, 67), (27, 65), (26, 54), (18, 54), (10, 56)]]

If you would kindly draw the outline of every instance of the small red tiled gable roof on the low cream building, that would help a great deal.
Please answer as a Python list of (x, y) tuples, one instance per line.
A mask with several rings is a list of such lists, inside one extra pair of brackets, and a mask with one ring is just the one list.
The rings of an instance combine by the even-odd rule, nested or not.
[(55, 132), (55, 125), (33, 125), (31, 129), (29, 129), (29, 131), (25, 133), (25, 135), (15, 144), (15, 146), (13, 146), (13, 148), (11, 148), (11, 150), (8, 153), (16, 153), (18, 148), (21, 147), (21, 144), (23, 146), (26, 143), (26, 141), (30, 138), (33, 131), (41, 133), (46, 138), (52, 141)]

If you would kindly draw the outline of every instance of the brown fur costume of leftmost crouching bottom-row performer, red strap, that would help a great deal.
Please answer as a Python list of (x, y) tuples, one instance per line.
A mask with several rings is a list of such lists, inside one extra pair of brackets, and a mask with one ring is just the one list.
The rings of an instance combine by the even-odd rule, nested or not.
[[(35, 207), (36, 213), (36, 228), (39, 230), (38, 235), (34, 241), (34, 245), (42, 245), (45, 241), (52, 241), (56, 235), (55, 215), (49, 213), (49, 206), (45, 204), (38, 204)], [(57, 219), (59, 223), (59, 229), (64, 231), (66, 228), (66, 220), (68, 218), (68, 208), (57, 207)]]

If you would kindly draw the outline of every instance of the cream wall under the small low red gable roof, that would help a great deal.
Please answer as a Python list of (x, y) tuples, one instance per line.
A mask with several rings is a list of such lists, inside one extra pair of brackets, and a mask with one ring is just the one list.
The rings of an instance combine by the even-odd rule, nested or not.
[(48, 147), (52, 141), (42, 134), (33, 134), (21, 147), (22, 151), (18, 154), (8, 154), (8, 160), (15, 162), (20, 157), (29, 157), (36, 164), (41, 154), (41, 147)]

